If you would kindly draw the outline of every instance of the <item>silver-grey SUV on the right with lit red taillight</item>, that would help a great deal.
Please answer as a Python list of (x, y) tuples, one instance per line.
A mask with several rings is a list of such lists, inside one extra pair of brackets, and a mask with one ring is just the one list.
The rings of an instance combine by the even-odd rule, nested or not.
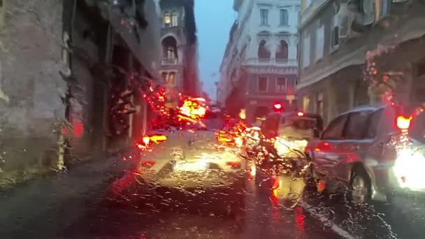
[(312, 182), (325, 182), (330, 191), (343, 182), (354, 203), (424, 192), (425, 114), (407, 114), (411, 109), (361, 106), (333, 119), (305, 147)]

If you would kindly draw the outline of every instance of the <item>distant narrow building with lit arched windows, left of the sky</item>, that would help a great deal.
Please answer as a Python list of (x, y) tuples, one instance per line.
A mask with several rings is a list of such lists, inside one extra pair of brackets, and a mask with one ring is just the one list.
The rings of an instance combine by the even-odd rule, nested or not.
[(161, 69), (168, 92), (200, 94), (193, 0), (157, 0), (161, 21)]

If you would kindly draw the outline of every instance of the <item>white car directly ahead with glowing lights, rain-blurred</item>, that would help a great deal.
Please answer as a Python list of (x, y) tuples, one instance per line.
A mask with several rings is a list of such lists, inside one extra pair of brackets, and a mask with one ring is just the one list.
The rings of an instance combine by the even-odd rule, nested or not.
[[(217, 199), (215, 203), (224, 207), (222, 212), (236, 213), (243, 205), (245, 161), (223, 145), (215, 147), (214, 131), (192, 133), (175, 129), (152, 132), (150, 136), (160, 135), (160, 143), (144, 139), (149, 147), (139, 147), (144, 150), (138, 165), (138, 182), (159, 190), (163, 196), (171, 191), (179, 198), (192, 200), (191, 195), (196, 194), (196, 198), (206, 199), (202, 205)], [(219, 195), (227, 195), (226, 203)]]

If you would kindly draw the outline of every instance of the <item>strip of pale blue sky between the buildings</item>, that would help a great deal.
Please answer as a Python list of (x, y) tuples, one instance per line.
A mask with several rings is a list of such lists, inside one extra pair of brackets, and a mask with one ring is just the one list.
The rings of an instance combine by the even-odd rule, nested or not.
[(219, 80), (219, 67), (235, 17), (233, 0), (195, 1), (199, 75), (211, 99), (215, 99), (215, 82)]

